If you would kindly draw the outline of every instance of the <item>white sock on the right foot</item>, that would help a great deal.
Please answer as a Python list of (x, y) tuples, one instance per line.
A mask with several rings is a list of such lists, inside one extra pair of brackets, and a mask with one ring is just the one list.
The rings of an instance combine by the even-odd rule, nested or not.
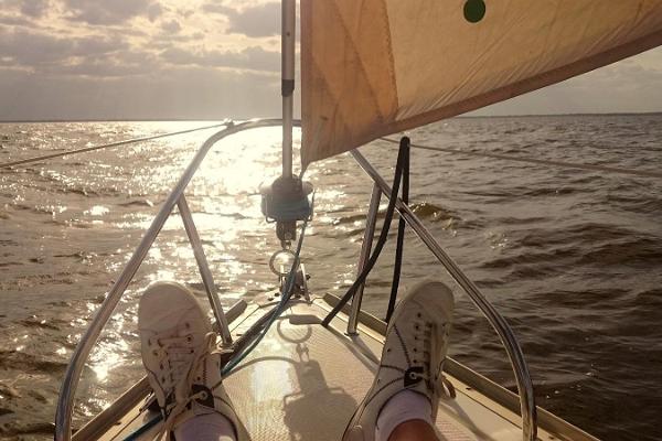
[(375, 426), (375, 440), (388, 441), (396, 427), (410, 420), (424, 420), (435, 427), (433, 407), (428, 399), (421, 394), (402, 390), (394, 395), (380, 412)]

